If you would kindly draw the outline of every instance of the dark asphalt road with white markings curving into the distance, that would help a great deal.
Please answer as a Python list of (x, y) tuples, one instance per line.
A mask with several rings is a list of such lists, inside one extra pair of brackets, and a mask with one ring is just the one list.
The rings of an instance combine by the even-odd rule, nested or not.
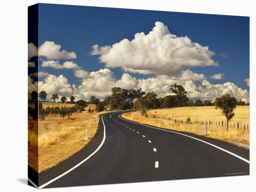
[[(99, 129), (86, 147), (40, 173), (39, 182), (30, 181), (49, 188), (249, 175), (246, 149), (130, 122), (121, 113), (102, 115)], [(33, 174), (29, 168), (29, 177)]]

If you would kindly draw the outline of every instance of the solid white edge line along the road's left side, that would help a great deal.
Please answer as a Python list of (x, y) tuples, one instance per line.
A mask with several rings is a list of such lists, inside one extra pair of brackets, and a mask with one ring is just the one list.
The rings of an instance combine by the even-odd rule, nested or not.
[[(78, 163), (77, 165), (73, 166), (71, 169), (67, 170), (65, 173), (62, 173), (62, 174), (59, 175), (58, 177), (55, 177), (54, 179), (48, 181), (47, 183), (45, 183), (45, 184), (39, 186), (38, 189), (42, 189), (43, 187), (45, 187), (45, 186), (51, 184), (52, 182), (54, 182), (55, 180), (60, 179), (61, 177), (63, 177), (63, 176), (66, 175), (67, 173), (73, 171), (75, 168), (77, 168), (78, 166), (80, 166), (81, 164), (83, 164), (83, 163), (84, 163), (85, 161), (87, 161), (90, 157), (92, 157), (94, 154), (96, 154), (97, 151), (100, 150), (100, 148), (102, 147), (102, 145), (103, 145), (103, 143), (104, 143), (104, 141), (105, 141), (105, 139), (106, 139), (106, 127), (105, 127), (105, 123), (104, 123), (104, 121), (103, 121), (103, 116), (106, 115), (106, 114), (107, 114), (107, 113), (101, 115), (101, 120), (102, 120), (103, 126), (104, 126), (104, 136), (103, 136), (103, 139), (102, 139), (101, 144), (99, 145), (99, 147), (98, 147), (92, 154), (90, 154), (86, 159), (82, 160), (80, 163)], [(112, 114), (112, 115), (113, 115), (113, 114)], [(110, 116), (111, 116), (111, 115), (110, 115)]]

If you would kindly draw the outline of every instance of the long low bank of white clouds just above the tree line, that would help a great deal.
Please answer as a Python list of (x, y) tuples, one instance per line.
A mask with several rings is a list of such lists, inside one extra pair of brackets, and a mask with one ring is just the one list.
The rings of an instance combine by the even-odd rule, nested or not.
[[(121, 78), (115, 77), (109, 69), (101, 69), (88, 73), (85, 70), (76, 72), (81, 78), (81, 84), (71, 85), (63, 75), (48, 75), (43, 81), (38, 82), (39, 91), (47, 91), (48, 96), (58, 93), (61, 96), (70, 97), (74, 95), (77, 99), (88, 100), (94, 95), (100, 99), (111, 96), (112, 87), (121, 87), (123, 89), (141, 88), (145, 92), (154, 91), (158, 97), (174, 95), (170, 90), (173, 83), (181, 84), (187, 91), (190, 99), (209, 99), (214, 101), (216, 97), (229, 93), (236, 96), (237, 100), (249, 102), (249, 91), (239, 88), (231, 82), (223, 84), (210, 83), (203, 74), (194, 73), (190, 70), (182, 70), (181, 74), (174, 77), (156, 76), (151, 78), (137, 79), (128, 73), (124, 73)], [(190, 79), (189, 79), (190, 77)], [(37, 82), (29, 77), (29, 91), (37, 88)], [(31, 92), (30, 92), (31, 93)]]

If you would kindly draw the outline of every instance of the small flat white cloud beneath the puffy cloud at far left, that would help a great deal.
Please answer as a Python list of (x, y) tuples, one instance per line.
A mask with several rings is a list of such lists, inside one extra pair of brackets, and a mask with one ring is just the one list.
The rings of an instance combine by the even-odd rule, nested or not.
[(80, 69), (76, 63), (73, 61), (65, 61), (63, 64), (60, 64), (60, 61), (57, 60), (50, 60), (50, 61), (43, 61), (42, 67), (52, 67), (54, 69)]

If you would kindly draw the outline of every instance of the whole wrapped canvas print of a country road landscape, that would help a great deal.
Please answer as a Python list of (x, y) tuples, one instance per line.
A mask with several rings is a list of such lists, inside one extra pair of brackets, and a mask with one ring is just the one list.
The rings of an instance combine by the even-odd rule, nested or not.
[(28, 7), (30, 186), (249, 175), (249, 130), (249, 17)]

